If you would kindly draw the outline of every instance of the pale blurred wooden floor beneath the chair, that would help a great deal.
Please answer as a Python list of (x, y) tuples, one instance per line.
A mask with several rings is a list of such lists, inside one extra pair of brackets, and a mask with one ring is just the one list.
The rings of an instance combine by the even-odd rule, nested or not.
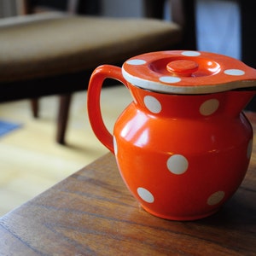
[[(57, 96), (40, 100), (39, 119), (32, 118), (27, 100), (0, 104), (0, 119), (22, 125), (0, 137), (0, 215), (108, 152), (90, 129), (86, 96), (86, 92), (73, 95), (67, 146), (55, 143)], [(123, 85), (102, 90), (102, 113), (109, 131), (129, 102), (130, 93)]]

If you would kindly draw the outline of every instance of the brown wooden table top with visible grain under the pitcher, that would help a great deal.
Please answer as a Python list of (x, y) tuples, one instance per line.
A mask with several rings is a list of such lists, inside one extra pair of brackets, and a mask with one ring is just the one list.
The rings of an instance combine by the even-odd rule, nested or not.
[(107, 154), (0, 218), (0, 255), (256, 255), (255, 169), (256, 144), (219, 212), (177, 222), (139, 207)]

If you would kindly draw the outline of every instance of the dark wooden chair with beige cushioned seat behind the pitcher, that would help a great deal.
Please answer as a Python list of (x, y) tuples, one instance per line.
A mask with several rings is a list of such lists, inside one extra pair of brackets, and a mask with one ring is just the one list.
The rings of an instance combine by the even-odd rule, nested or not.
[[(145, 0), (147, 17), (159, 18), (154, 11), (156, 2)], [(187, 35), (187, 32), (193, 32), (193, 29), (188, 29), (188, 24), (193, 25), (194, 1), (170, 2), (177, 23), (148, 18), (70, 15), (66, 12), (1, 20), (0, 102), (36, 99), (33, 105), (37, 114), (38, 97), (60, 95), (56, 141), (64, 144), (71, 95), (86, 90), (95, 67), (103, 63), (120, 65), (129, 57), (148, 51), (181, 47), (195, 49), (195, 36), (188, 40)], [(78, 1), (69, 0), (71, 9), (76, 9), (73, 3)], [(26, 4), (27, 10), (31, 9), (29, 1)], [(160, 1), (161, 10), (163, 4), (164, 1)]]

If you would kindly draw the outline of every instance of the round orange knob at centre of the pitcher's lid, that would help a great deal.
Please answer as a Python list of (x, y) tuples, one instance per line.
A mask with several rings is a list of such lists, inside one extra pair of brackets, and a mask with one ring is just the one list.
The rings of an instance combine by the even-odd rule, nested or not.
[(175, 73), (176, 75), (183, 77), (189, 77), (192, 73), (197, 71), (198, 67), (199, 66), (195, 61), (178, 60), (169, 62), (166, 69), (170, 73)]

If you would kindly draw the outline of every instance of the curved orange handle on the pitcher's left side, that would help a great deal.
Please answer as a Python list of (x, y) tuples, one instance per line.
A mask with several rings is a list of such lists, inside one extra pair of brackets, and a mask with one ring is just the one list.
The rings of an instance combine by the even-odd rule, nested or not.
[(87, 109), (90, 120), (90, 125), (99, 141), (105, 145), (112, 153), (113, 149), (113, 135), (108, 131), (102, 119), (101, 111), (101, 90), (102, 84), (105, 79), (115, 79), (125, 84), (127, 82), (122, 75), (120, 67), (112, 65), (102, 65), (96, 67), (95, 71), (91, 74), (90, 82), (87, 93)]

